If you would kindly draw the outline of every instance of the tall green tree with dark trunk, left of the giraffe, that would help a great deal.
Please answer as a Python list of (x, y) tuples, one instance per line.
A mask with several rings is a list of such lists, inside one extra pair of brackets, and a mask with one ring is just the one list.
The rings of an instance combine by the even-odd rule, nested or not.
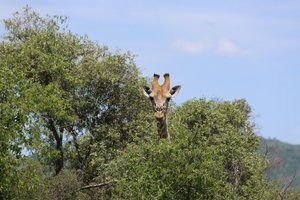
[(88, 184), (105, 179), (96, 169), (147, 133), (150, 106), (140, 95), (146, 80), (134, 57), (73, 34), (66, 20), (41, 17), (29, 7), (4, 20), (1, 158), (11, 162), (1, 159), (2, 176), (10, 176), (3, 188), (14, 181), (8, 169), (17, 171), (22, 150), (43, 164), (47, 176), (70, 168)]

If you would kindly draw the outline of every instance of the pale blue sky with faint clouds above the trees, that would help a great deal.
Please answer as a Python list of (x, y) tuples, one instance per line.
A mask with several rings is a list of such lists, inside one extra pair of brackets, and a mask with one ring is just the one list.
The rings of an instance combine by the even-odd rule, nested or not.
[(0, 0), (0, 20), (26, 5), (130, 51), (144, 76), (170, 73), (177, 104), (245, 98), (259, 136), (300, 144), (300, 1)]

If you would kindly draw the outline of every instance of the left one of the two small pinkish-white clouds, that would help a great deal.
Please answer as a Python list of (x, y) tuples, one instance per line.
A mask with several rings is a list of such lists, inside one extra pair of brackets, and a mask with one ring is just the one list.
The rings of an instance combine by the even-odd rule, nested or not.
[(188, 53), (203, 53), (210, 48), (207, 41), (189, 41), (185, 39), (177, 39), (174, 42), (174, 47)]

